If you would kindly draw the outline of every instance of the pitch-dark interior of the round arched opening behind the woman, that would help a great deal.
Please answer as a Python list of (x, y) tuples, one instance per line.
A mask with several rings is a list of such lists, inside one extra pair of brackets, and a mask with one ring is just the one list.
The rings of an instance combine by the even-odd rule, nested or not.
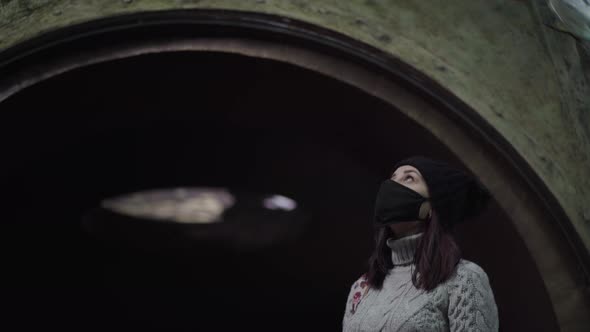
[[(378, 98), (236, 54), (95, 64), (31, 86), (2, 110), (8, 297), (25, 324), (62, 329), (300, 331), (313, 321), (339, 330), (389, 167), (417, 153), (462, 165)], [(215, 242), (146, 250), (80, 226), (104, 198), (175, 186), (280, 192), (311, 218), (293, 241), (258, 251)], [(502, 330), (557, 329), (535, 263), (496, 203), (458, 239), (491, 276)]]

